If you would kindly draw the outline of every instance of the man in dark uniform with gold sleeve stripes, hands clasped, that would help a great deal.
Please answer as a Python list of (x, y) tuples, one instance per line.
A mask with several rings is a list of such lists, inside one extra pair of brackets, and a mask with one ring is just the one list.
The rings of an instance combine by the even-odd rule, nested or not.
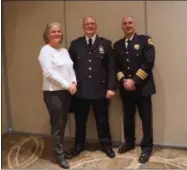
[(147, 35), (135, 32), (135, 19), (124, 17), (122, 28), (125, 37), (114, 44), (117, 64), (117, 78), (120, 82), (120, 96), (124, 108), (125, 143), (118, 153), (135, 148), (135, 112), (138, 109), (143, 127), (142, 153), (139, 162), (149, 160), (153, 147), (152, 101), (156, 93), (152, 69), (155, 48)]

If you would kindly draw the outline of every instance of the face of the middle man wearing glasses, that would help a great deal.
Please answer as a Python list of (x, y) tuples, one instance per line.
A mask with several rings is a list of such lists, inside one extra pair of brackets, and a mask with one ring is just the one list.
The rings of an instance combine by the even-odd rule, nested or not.
[(97, 24), (92, 17), (86, 17), (83, 21), (83, 30), (86, 35), (93, 36), (96, 34)]

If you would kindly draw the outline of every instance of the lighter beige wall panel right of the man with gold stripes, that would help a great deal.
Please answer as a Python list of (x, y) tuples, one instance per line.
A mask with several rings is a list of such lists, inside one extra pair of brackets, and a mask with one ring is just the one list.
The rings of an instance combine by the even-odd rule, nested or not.
[(147, 1), (148, 32), (156, 47), (155, 143), (187, 146), (187, 2)]

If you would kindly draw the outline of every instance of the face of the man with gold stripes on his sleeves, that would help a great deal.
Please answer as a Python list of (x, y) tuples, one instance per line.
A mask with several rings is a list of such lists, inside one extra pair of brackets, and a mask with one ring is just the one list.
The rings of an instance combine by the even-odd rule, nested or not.
[(122, 20), (122, 29), (126, 35), (135, 33), (135, 20), (132, 17), (125, 17)]

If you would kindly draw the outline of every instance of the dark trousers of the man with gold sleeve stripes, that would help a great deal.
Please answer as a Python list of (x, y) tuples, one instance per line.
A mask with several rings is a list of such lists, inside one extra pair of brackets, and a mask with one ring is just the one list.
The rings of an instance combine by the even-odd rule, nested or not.
[(142, 121), (143, 138), (141, 148), (152, 148), (152, 101), (151, 96), (142, 96), (140, 92), (121, 93), (124, 110), (124, 137), (127, 146), (135, 146), (135, 113), (136, 107)]

